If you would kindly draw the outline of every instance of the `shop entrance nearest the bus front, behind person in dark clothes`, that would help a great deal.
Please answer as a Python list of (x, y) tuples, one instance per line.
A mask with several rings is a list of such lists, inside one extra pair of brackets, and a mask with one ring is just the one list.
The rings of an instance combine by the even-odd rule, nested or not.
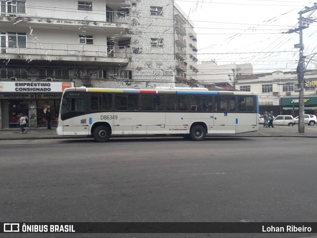
[(58, 120), (60, 100), (38, 100), (37, 101), (37, 127), (47, 127), (46, 111), (51, 111), (51, 127), (56, 127)]

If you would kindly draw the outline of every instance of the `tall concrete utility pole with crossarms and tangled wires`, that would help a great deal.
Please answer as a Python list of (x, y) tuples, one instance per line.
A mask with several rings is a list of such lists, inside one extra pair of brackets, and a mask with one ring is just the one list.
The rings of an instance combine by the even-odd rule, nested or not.
[[(297, 77), (298, 77), (298, 83), (299, 83), (299, 123), (298, 123), (298, 132), (299, 133), (305, 133), (305, 124), (304, 124), (304, 113), (305, 113), (305, 105), (304, 105), (304, 74), (305, 74), (305, 68), (304, 68), (304, 44), (303, 44), (303, 29), (308, 28), (310, 23), (315, 22), (314, 19), (310, 18), (310, 16), (313, 14), (314, 11), (317, 9), (317, 3), (314, 3), (314, 6), (312, 7), (305, 7), (304, 10), (299, 12), (299, 27), (296, 29), (289, 30), (286, 33), (293, 33), (299, 31), (299, 44), (296, 44), (294, 47), (299, 48), (299, 61), (297, 66)], [(308, 17), (304, 18), (302, 15), (307, 12), (311, 12)]]

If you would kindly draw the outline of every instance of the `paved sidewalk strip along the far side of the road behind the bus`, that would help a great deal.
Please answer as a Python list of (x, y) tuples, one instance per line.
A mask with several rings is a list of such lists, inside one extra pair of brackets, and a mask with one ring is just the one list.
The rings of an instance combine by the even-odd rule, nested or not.
[[(21, 134), (20, 129), (1, 129), (0, 140), (87, 138), (86, 136), (58, 136), (56, 133), (56, 128), (54, 127), (52, 127), (52, 130), (48, 130), (47, 128), (34, 128), (34, 129), (27, 128), (27, 130), (28, 132), (26, 134)], [(210, 135), (208, 136), (210, 137)], [(114, 137), (122, 137), (122, 136), (114, 136)], [(153, 136), (149, 135), (149, 136), (137, 136), (137, 137), (153, 137)], [(263, 124), (260, 124), (259, 131), (257, 132), (248, 132), (248, 133), (234, 134), (234, 135), (221, 134), (221, 135), (215, 135), (214, 137), (310, 137), (310, 138), (317, 138), (317, 125), (315, 126), (305, 125), (305, 133), (299, 133), (298, 125), (295, 125), (293, 127), (274, 126), (274, 128), (263, 128)]]

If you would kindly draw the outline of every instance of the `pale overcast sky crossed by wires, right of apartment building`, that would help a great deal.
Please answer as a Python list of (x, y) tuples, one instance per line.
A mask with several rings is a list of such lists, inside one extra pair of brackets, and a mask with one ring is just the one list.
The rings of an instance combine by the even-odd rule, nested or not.
[[(298, 12), (311, 0), (175, 0), (195, 24), (198, 59), (217, 65), (252, 63), (254, 72), (294, 71), (299, 58)], [(308, 16), (309, 13), (303, 16)], [(317, 20), (317, 11), (312, 14)], [(307, 61), (317, 52), (317, 23), (303, 30)], [(308, 65), (317, 69), (317, 54)]]

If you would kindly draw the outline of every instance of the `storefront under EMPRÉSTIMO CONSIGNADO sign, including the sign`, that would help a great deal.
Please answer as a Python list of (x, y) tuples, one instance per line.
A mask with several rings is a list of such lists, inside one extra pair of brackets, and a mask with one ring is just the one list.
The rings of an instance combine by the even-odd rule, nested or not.
[(45, 112), (50, 108), (52, 126), (56, 125), (60, 99), (73, 82), (0, 82), (0, 128), (19, 128), (19, 115), (28, 116), (27, 127), (47, 127)]

